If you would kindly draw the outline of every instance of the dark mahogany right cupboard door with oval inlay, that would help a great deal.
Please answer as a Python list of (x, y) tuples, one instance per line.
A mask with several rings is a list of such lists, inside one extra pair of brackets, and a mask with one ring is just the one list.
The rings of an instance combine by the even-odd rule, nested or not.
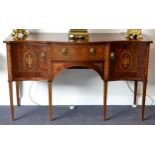
[(110, 47), (110, 79), (142, 80), (145, 68), (145, 43), (113, 43)]

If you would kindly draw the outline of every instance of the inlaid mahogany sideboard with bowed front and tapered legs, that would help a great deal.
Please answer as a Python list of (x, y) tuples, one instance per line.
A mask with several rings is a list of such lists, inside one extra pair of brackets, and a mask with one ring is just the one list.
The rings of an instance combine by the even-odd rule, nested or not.
[(32, 33), (25, 40), (4, 40), (7, 47), (10, 108), (14, 120), (13, 81), (17, 105), (20, 105), (20, 81), (48, 81), (49, 119), (52, 120), (52, 81), (62, 70), (83, 67), (95, 70), (104, 81), (103, 119), (106, 119), (109, 81), (134, 81), (136, 104), (138, 81), (143, 82), (142, 113), (144, 120), (149, 50), (151, 40), (129, 40), (122, 34), (89, 34), (87, 41), (68, 40), (66, 33)]

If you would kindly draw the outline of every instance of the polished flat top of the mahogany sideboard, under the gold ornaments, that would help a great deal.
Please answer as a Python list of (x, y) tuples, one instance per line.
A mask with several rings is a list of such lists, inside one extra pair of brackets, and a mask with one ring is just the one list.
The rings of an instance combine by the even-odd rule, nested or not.
[(120, 33), (90, 33), (88, 40), (69, 40), (68, 33), (30, 33), (24, 40), (14, 40), (12, 36), (8, 36), (4, 43), (22, 43), (22, 42), (42, 42), (42, 43), (69, 43), (69, 44), (87, 44), (87, 43), (110, 43), (110, 42), (148, 42), (152, 43), (152, 40), (148, 39), (147, 35), (143, 35), (143, 39), (131, 40), (125, 38)]

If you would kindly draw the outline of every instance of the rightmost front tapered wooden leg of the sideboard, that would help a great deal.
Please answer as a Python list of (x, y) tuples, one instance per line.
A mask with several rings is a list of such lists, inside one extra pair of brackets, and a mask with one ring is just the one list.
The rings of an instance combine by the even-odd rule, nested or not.
[(146, 89), (147, 89), (147, 82), (143, 82), (143, 95), (142, 95), (142, 120), (144, 121), (145, 115), (145, 100), (146, 100)]

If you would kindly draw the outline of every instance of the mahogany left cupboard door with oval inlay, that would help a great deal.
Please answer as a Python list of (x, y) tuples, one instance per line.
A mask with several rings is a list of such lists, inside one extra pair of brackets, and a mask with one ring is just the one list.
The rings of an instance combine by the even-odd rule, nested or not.
[(47, 78), (49, 51), (47, 44), (12, 44), (13, 79)]

